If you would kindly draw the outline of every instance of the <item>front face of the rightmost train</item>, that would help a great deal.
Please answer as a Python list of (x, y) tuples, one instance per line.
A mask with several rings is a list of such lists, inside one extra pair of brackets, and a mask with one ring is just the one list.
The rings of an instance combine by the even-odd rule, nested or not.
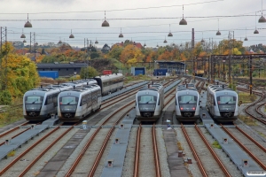
[(235, 91), (219, 91), (215, 93), (216, 104), (214, 118), (218, 121), (233, 121), (238, 119), (238, 94)]

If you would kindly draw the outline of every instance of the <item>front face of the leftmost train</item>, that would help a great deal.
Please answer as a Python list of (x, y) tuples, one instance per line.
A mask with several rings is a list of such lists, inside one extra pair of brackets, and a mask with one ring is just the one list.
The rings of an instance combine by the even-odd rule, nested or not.
[[(23, 96), (23, 116), (27, 120), (39, 121), (51, 115), (43, 108), (44, 92), (27, 91)], [(42, 110), (43, 108), (43, 110)]]

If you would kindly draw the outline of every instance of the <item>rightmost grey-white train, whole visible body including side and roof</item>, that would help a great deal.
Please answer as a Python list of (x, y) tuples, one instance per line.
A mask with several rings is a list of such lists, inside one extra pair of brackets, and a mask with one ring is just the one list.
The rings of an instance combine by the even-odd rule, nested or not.
[(207, 87), (207, 111), (213, 119), (228, 122), (238, 119), (238, 93), (224, 85), (209, 85)]

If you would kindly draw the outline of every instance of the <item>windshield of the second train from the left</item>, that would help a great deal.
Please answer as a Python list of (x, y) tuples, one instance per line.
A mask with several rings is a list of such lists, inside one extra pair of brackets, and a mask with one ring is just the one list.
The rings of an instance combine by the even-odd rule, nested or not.
[(59, 97), (61, 112), (75, 112), (79, 98), (75, 96)]

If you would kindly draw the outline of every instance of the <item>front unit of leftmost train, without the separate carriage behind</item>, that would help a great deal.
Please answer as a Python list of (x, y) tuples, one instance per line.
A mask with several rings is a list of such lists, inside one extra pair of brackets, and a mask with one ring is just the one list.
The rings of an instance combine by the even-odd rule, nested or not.
[(30, 89), (23, 96), (23, 116), (33, 121), (49, 119), (51, 114), (58, 112), (58, 96), (61, 91), (96, 83), (97, 81), (90, 79)]

